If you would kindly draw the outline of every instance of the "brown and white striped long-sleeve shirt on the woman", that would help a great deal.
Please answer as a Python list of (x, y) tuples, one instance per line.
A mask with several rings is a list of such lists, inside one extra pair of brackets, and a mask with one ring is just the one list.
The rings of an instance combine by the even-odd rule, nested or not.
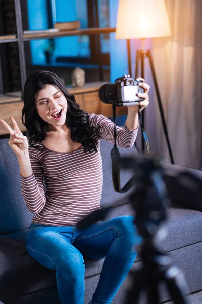
[[(89, 118), (91, 125), (100, 128), (101, 139), (114, 143), (114, 123), (103, 115), (91, 114)], [(136, 136), (137, 129), (117, 127), (119, 146), (131, 148)], [(24, 202), (35, 213), (33, 223), (75, 226), (100, 209), (103, 175), (99, 142), (97, 152), (86, 153), (82, 145), (70, 153), (50, 150), (43, 142), (36, 144), (42, 150), (29, 147), (33, 174), (20, 177)]]

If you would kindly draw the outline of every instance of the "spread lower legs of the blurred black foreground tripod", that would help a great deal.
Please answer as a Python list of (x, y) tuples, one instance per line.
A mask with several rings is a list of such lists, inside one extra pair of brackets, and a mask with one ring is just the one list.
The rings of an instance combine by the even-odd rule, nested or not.
[[(187, 290), (183, 274), (176, 267), (171, 266), (171, 261), (166, 254), (159, 251), (155, 245), (148, 242), (142, 244), (140, 255), (143, 259), (143, 267), (136, 273), (132, 273), (132, 286), (126, 298), (127, 304), (138, 303), (140, 292), (147, 291), (147, 303), (158, 304), (158, 284), (166, 282), (167, 288), (176, 304), (186, 304)], [(150, 257), (148, 256), (150, 255)]]

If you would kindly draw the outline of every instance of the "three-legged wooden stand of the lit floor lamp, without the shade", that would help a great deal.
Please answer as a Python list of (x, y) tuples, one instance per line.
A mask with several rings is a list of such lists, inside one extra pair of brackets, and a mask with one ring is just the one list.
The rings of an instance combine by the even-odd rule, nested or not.
[[(156, 73), (155, 73), (154, 62), (153, 62), (153, 58), (151, 56), (151, 50), (144, 51), (144, 40), (145, 39), (142, 39), (142, 49), (136, 51), (135, 79), (138, 77), (140, 59), (141, 59), (141, 77), (144, 78), (144, 57), (148, 57), (150, 68), (151, 68), (151, 73), (153, 75), (153, 80), (154, 80), (154, 84), (155, 84), (155, 90), (156, 90), (156, 94), (157, 94), (157, 100), (158, 100), (162, 125), (163, 125), (163, 129), (164, 129), (164, 134), (165, 134), (166, 142), (167, 142), (167, 146), (168, 146), (169, 156), (170, 156), (171, 163), (174, 165), (174, 159), (173, 159), (173, 154), (172, 154), (172, 150), (171, 150), (170, 140), (169, 140), (169, 137), (168, 137), (168, 129), (167, 129), (167, 126), (166, 126), (166, 121), (165, 121), (161, 96), (160, 96), (159, 87), (158, 87), (158, 83), (157, 83), (157, 77), (156, 77)], [(130, 57), (130, 41), (129, 41), (129, 39), (127, 40), (127, 46), (128, 46), (129, 74), (131, 75), (131, 57)], [(144, 111), (142, 111), (141, 116), (142, 116), (142, 123), (144, 125)], [(143, 152), (144, 152), (144, 147), (145, 147), (144, 146), (144, 138), (142, 136), (142, 151)]]

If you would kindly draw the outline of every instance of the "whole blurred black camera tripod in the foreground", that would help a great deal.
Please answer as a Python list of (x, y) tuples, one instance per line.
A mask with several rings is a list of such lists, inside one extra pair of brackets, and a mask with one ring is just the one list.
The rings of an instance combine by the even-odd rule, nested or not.
[[(128, 161), (128, 159), (127, 159)], [(125, 162), (122, 160), (122, 162)], [(127, 293), (127, 304), (138, 303), (140, 292), (146, 291), (148, 304), (159, 303), (158, 285), (164, 281), (176, 304), (187, 304), (185, 294), (188, 288), (183, 274), (171, 264), (171, 259), (159, 249), (162, 228), (159, 225), (167, 218), (169, 200), (162, 179), (163, 168), (158, 160), (144, 160), (141, 174), (138, 175), (137, 188), (130, 196), (136, 211), (134, 223), (138, 234), (143, 237), (138, 253), (142, 257), (141, 269), (130, 272), (131, 290)], [(128, 166), (129, 164), (127, 164)], [(144, 170), (144, 171), (143, 171)]]

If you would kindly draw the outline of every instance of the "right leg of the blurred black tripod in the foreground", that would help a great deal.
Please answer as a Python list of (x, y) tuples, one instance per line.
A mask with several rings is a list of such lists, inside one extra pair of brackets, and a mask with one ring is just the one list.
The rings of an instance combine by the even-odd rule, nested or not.
[(183, 273), (176, 267), (171, 267), (165, 275), (168, 290), (176, 304), (188, 304), (186, 297), (188, 294), (188, 287), (184, 279)]

